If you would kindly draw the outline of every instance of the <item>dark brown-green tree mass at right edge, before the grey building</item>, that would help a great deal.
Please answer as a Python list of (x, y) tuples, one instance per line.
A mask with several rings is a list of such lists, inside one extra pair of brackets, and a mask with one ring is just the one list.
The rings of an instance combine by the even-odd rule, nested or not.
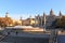
[(65, 28), (65, 16), (57, 18), (53, 22), (52, 26), (54, 28)]

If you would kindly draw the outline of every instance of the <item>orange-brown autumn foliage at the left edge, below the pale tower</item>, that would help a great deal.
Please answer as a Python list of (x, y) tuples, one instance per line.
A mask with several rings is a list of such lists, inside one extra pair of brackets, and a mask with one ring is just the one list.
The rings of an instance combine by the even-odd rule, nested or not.
[(1, 27), (6, 27), (6, 26), (10, 26), (11, 24), (13, 24), (13, 20), (10, 17), (0, 18), (0, 26)]

